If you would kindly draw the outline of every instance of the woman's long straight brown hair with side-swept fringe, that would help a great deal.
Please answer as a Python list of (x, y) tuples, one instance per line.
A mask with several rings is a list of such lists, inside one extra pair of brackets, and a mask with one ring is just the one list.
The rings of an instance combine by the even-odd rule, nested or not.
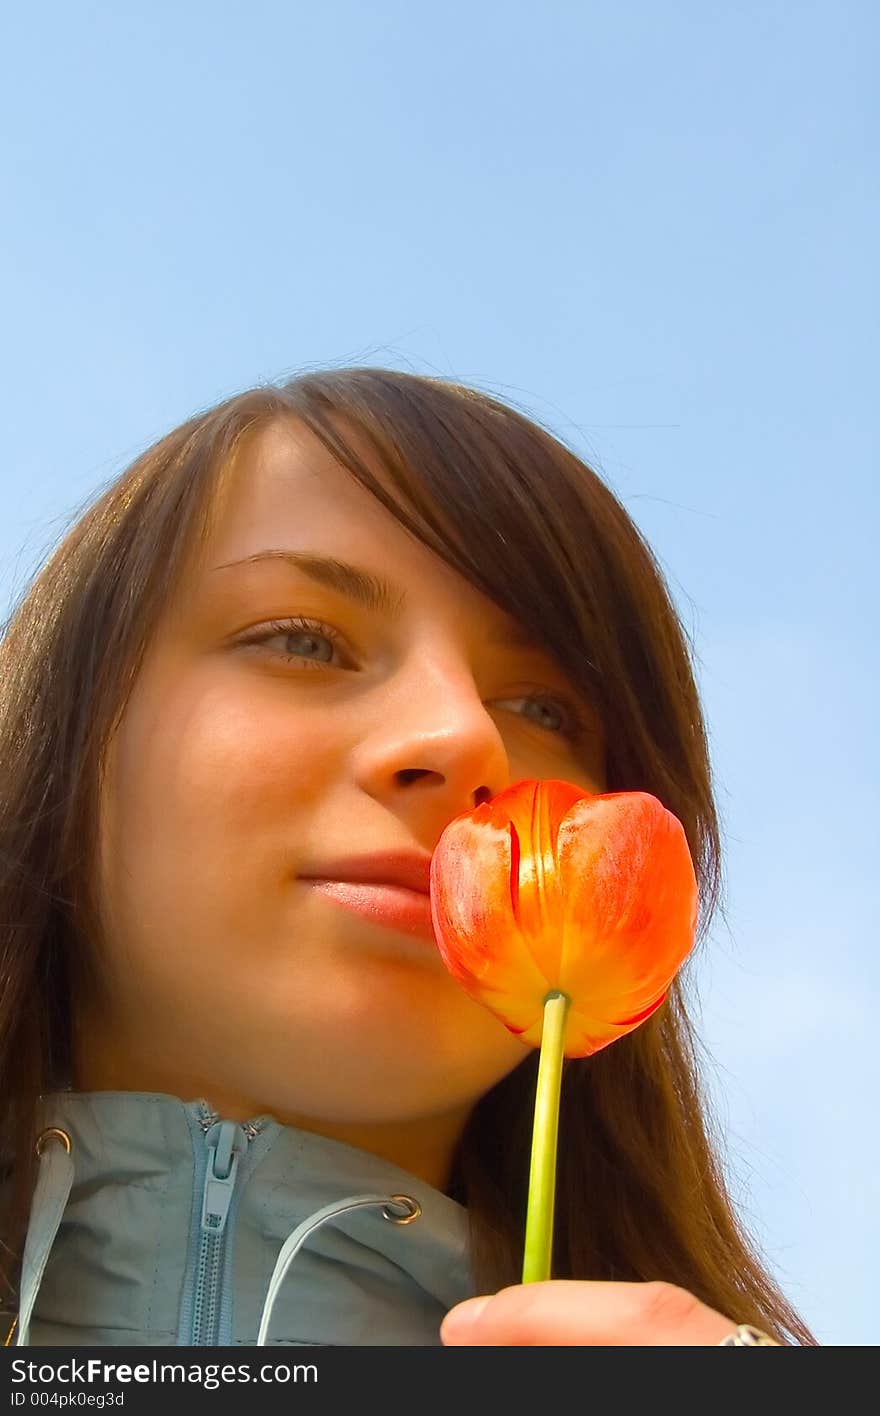
[[(650, 548), (582, 459), (497, 398), (381, 368), (309, 372), (198, 413), (92, 500), (0, 640), (4, 1303), (14, 1303), (35, 1178), (37, 1103), (72, 1066), (69, 970), (88, 963), (98, 920), (103, 753), (184, 559), (210, 534), (235, 452), (251, 430), (290, 416), (543, 640), (598, 708), (605, 790), (650, 792), (684, 827), (700, 943), (720, 905), (693, 649)], [(554, 1276), (666, 1280), (737, 1323), (813, 1345), (726, 1188), (687, 973), (635, 1032), (565, 1063)], [(452, 1192), (470, 1214), (479, 1291), (519, 1281), (536, 1062), (476, 1104), (456, 1153)]]

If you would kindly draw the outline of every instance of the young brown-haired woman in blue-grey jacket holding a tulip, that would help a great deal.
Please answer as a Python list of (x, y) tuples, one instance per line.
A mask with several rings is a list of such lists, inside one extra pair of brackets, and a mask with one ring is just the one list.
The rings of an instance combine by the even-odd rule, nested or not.
[(68, 531), (0, 685), (9, 1342), (815, 1342), (726, 1191), (687, 966), (565, 1063), (519, 1283), (537, 1052), (432, 944), (441, 833), (521, 777), (645, 790), (700, 939), (720, 895), (682, 626), (554, 436), (385, 370), (231, 398)]

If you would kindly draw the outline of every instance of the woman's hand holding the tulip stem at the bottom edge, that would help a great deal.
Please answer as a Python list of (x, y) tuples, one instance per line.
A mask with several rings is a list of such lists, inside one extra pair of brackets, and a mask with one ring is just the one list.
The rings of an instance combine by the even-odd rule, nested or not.
[(550, 1279), (468, 1298), (441, 1324), (445, 1347), (717, 1347), (738, 1320), (672, 1283)]

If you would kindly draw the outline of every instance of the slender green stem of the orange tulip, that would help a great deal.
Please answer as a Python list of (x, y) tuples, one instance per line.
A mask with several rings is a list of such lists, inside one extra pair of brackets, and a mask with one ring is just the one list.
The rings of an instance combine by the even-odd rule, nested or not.
[(555, 1141), (560, 1123), (563, 1046), (571, 998), (548, 993), (544, 998), (544, 1029), (538, 1056), (538, 1078), (531, 1131), (531, 1168), (526, 1211), (523, 1283), (550, 1277), (553, 1260), (553, 1204), (555, 1198)]

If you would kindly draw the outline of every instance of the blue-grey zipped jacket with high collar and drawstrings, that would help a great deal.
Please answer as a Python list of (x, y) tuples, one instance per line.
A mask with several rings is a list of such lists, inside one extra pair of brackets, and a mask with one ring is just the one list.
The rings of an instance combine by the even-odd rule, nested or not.
[(475, 1293), (462, 1205), (367, 1151), (163, 1093), (41, 1107), (11, 1345), (428, 1347)]

